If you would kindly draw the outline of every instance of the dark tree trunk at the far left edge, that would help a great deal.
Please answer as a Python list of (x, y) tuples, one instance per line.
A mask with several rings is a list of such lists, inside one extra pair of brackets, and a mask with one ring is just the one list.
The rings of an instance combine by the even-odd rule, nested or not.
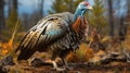
[(4, 26), (4, 0), (0, 0), (0, 34)]

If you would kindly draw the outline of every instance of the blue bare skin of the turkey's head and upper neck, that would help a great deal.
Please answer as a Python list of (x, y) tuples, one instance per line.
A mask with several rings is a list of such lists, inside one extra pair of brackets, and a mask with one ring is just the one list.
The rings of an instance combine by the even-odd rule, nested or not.
[(79, 4), (75, 14), (74, 14), (74, 20), (76, 21), (78, 16), (83, 17), (84, 12), (87, 11), (87, 5), (86, 4)]

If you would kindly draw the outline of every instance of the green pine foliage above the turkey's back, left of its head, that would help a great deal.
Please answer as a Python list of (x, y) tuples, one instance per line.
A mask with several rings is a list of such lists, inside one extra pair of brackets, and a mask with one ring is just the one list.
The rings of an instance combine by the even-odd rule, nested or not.
[(72, 12), (74, 13), (79, 2), (83, 0), (55, 0), (52, 4), (52, 10), (49, 13)]

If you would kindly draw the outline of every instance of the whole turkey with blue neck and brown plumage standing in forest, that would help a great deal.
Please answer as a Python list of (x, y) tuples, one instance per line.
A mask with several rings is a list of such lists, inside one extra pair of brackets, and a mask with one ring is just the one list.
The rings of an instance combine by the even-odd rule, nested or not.
[(92, 9), (89, 2), (80, 2), (75, 14), (69, 12), (52, 14), (40, 20), (37, 25), (30, 28), (24, 36), (15, 50), (17, 60), (27, 60), (36, 51), (44, 52), (51, 50), (52, 63), (58, 70), (55, 58), (60, 57), (68, 69), (65, 57), (79, 48), (81, 40), (86, 37), (88, 24), (84, 12)]

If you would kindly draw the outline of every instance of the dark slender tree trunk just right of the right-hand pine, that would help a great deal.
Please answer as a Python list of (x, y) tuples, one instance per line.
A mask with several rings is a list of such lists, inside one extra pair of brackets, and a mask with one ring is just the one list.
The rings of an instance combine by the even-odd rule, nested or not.
[(108, 15), (109, 15), (109, 35), (114, 36), (114, 16), (113, 16), (113, 1), (112, 0), (107, 0), (108, 1)]

